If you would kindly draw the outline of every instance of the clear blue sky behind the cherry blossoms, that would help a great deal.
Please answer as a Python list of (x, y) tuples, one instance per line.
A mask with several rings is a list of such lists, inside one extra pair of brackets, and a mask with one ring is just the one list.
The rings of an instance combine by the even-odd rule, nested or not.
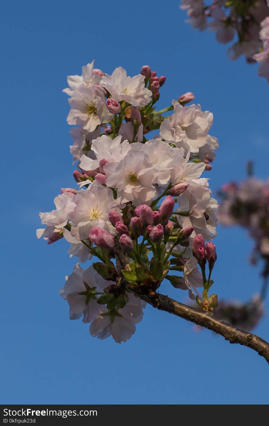
[[(101, 5), (101, 6), (100, 6)], [(121, 345), (90, 337), (68, 320), (58, 295), (74, 259), (63, 240), (38, 241), (38, 213), (53, 208), (61, 187), (74, 187), (66, 123), (66, 76), (95, 59), (136, 75), (149, 64), (167, 81), (159, 107), (184, 92), (214, 114), (220, 141), (210, 187), (268, 173), (268, 84), (244, 58), (229, 61), (214, 35), (184, 23), (177, 2), (9, 2), (2, 7), (1, 403), (266, 404), (268, 366), (254, 351), (164, 312), (146, 308)], [(213, 273), (219, 298), (246, 301), (261, 287), (247, 262), (243, 230), (218, 227)], [(165, 294), (186, 302), (168, 284)], [(267, 297), (268, 299), (268, 297)], [(255, 333), (269, 340), (268, 314)]]

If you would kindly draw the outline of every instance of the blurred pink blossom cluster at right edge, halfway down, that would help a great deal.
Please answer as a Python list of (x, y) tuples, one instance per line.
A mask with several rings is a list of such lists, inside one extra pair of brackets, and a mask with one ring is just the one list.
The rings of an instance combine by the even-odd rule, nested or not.
[(269, 276), (269, 181), (250, 176), (219, 191), (222, 198), (218, 219), (223, 225), (240, 225), (255, 241), (251, 262), (263, 260), (263, 276)]

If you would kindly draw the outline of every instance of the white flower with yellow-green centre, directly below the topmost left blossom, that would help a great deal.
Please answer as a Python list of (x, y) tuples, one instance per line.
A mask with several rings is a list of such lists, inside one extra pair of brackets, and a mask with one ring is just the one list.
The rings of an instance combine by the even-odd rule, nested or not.
[(68, 124), (81, 124), (88, 132), (93, 132), (97, 126), (108, 123), (113, 117), (108, 111), (101, 89), (80, 87), (68, 102), (71, 108), (67, 117)]

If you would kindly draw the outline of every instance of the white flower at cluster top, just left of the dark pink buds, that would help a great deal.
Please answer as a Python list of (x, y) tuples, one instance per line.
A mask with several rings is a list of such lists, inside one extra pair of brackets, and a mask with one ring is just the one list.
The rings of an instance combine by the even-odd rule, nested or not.
[(152, 92), (145, 87), (144, 75), (127, 77), (125, 69), (116, 68), (112, 75), (105, 74), (100, 86), (105, 87), (115, 101), (126, 101), (134, 107), (145, 107), (151, 101)]

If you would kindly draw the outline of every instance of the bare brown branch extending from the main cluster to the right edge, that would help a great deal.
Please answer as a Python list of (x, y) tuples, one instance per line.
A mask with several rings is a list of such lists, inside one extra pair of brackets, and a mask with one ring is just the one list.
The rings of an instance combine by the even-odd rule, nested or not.
[(208, 328), (217, 334), (221, 334), (221, 336), (223, 336), (225, 340), (229, 340), (230, 343), (240, 343), (240, 345), (253, 349), (269, 363), (269, 343), (261, 339), (261, 337), (247, 333), (246, 331), (240, 330), (240, 328), (232, 327), (232, 325), (218, 320), (213, 315), (198, 311), (197, 309), (177, 302), (163, 294), (156, 293), (154, 297), (139, 295), (139, 297), (152, 305), (153, 308), (158, 308), (161, 311), (169, 312), (177, 317), (184, 318), (184, 320)]

